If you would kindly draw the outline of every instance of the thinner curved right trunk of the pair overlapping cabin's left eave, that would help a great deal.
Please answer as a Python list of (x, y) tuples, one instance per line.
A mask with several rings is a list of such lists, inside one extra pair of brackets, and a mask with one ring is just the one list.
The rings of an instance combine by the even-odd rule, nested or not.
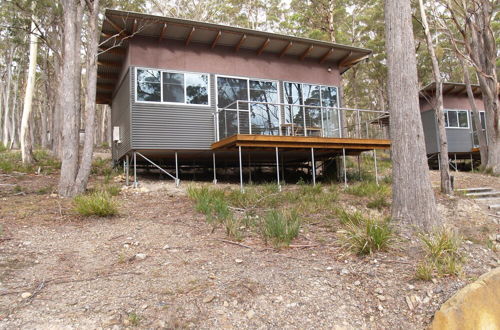
[(97, 20), (99, 15), (99, 0), (93, 0), (89, 8), (89, 40), (87, 42), (87, 92), (85, 101), (85, 142), (83, 154), (76, 176), (74, 194), (81, 194), (87, 188), (87, 182), (92, 168), (92, 155), (94, 153), (94, 136), (96, 123), (96, 84), (97, 84), (97, 45), (99, 30)]

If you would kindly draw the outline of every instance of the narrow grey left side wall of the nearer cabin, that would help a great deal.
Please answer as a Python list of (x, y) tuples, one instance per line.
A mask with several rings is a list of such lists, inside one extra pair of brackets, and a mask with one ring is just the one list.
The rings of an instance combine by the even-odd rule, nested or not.
[(121, 143), (113, 143), (113, 160), (118, 160), (130, 150), (130, 71), (125, 74), (121, 86), (111, 104), (112, 126), (120, 127)]

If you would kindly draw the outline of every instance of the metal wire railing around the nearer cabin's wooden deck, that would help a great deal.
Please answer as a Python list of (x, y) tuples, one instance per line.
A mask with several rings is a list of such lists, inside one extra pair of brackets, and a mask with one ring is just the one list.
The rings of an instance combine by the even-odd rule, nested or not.
[(387, 139), (378, 110), (235, 101), (214, 113), (215, 141), (235, 134)]

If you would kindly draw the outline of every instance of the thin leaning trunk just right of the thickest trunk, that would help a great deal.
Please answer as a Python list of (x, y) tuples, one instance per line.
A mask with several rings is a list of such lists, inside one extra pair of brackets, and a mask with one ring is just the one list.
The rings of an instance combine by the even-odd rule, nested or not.
[(422, 18), (422, 25), (424, 27), (425, 39), (427, 41), (427, 50), (432, 62), (432, 74), (436, 83), (436, 93), (434, 95), (434, 112), (437, 118), (438, 132), (439, 132), (439, 157), (440, 174), (441, 174), (441, 192), (447, 195), (453, 194), (450, 179), (450, 166), (448, 159), (448, 137), (446, 136), (446, 127), (444, 123), (444, 108), (443, 108), (443, 79), (441, 78), (441, 70), (434, 50), (432, 42), (431, 31), (427, 23), (427, 15), (425, 13), (424, 1), (418, 1), (420, 6), (420, 17)]

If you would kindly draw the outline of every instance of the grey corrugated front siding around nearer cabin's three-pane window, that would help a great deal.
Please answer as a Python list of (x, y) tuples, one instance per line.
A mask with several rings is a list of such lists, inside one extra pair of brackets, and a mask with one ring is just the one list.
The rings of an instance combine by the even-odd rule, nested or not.
[(214, 142), (214, 75), (210, 75), (210, 106), (205, 107), (135, 102), (135, 68), (130, 73), (133, 149), (210, 149)]

